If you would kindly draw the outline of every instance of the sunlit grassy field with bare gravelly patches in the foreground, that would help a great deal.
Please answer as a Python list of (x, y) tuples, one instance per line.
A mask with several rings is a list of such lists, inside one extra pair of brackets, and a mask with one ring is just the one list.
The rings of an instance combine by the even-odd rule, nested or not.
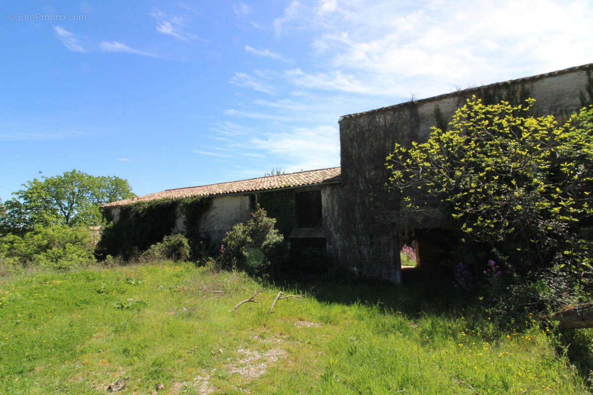
[[(190, 264), (1, 277), (0, 394), (581, 394), (526, 313), (502, 333), (418, 287), (333, 285), (302, 301)], [(243, 288), (242, 288), (243, 287)], [(287, 293), (298, 291), (284, 289)]]

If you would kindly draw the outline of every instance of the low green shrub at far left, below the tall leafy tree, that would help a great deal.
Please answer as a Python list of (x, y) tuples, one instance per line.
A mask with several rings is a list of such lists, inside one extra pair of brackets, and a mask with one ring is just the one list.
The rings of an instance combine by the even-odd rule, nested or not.
[(55, 225), (37, 227), (24, 236), (0, 238), (0, 255), (5, 264), (71, 269), (95, 262), (93, 235), (85, 227)]

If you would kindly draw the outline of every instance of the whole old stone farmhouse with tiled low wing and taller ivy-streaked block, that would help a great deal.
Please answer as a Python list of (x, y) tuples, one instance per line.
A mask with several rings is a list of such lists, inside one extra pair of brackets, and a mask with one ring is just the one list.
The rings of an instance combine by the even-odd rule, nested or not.
[[(339, 120), (340, 167), (166, 190), (101, 210), (117, 221), (122, 207), (136, 201), (205, 195), (212, 204), (199, 219), (199, 232), (220, 243), (259, 203), (278, 220), (292, 248), (325, 247), (345, 270), (398, 283), (400, 238), (413, 237), (420, 266), (431, 265), (445, 240), (442, 232), (452, 224), (441, 213), (426, 219), (400, 215), (397, 204), (390, 208), (385, 157), (395, 143), (425, 141), (439, 116), (448, 122), (473, 95), (484, 102), (533, 97), (534, 115), (562, 118), (582, 107), (587, 84), (593, 86), (593, 63), (345, 115)], [(183, 231), (183, 223), (178, 216), (174, 231)]]

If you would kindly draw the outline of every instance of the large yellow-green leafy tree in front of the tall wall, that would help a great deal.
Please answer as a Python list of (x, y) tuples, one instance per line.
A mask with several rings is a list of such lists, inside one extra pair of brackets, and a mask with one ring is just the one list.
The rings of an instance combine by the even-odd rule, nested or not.
[(475, 97), (428, 142), (397, 144), (390, 187), (404, 209), (441, 205), (475, 240), (525, 271), (591, 272), (593, 107), (560, 126), (524, 104)]

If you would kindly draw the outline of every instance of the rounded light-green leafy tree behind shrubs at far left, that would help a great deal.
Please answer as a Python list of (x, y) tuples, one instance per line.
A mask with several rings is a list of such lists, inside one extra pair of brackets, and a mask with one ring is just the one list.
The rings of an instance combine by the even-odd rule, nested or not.
[(127, 180), (116, 176), (93, 176), (76, 169), (63, 175), (33, 179), (25, 189), (5, 201), (0, 232), (23, 234), (35, 226), (56, 224), (96, 225), (101, 222), (98, 207), (132, 197)]

